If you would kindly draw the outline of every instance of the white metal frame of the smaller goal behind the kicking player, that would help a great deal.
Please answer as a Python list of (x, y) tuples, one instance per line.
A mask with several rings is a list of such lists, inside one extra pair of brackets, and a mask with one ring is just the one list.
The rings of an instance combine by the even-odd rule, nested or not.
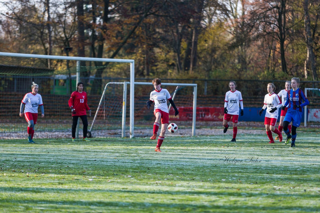
[[(103, 98), (105, 96), (105, 92), (106, 92), (106, 89), (108, 87), (109, 84), (123, 84), (124, 85), (124, 92), (123, 92), (123, 106), (122, 106), (122, 109), (123, 109), (123, 112), (122, 112), (122, 137), (124, 137), (124, 130), (125, 130), (125, 115), (126, 115), (126, 112), (125, 112), (125, 109), (126, 109), (126, 96), (127, 96), (127, 85), (128, 84), (131, 84), (130, 82), (127, 82), (127, 81), (124, 81), (124, 82), (109, 82), (106, 84), (106, 86), (104, 87), (104, 90), (102, 92), (102, 95), (101, 95), (101, 98), (100, 98), (100, 102), (99, 102), (99, 105), (97, 107), (97, 111), (94, 115), (94, 118), (92, 120), (92, 124), (90, 126), (90, 132), (92, 131), (92, 127), (94, 125), (94, 122), (97, 118), (97, 115), (98, 115), (98, 111), (100, 109), (100, 106), (101, 106), (101, 103), (103, 101)], [(152, 83), (151, 82), (134, 82), (134, 85), (150, 85), (152, 86)], [(189, 86), (189, 87), (193, 87), (193, 114), (192, 114), (192, 136), (195, 136), (196, 135), (196, 104), (197, 104), (197, 84), (183, 84), (183, 83), (161, 83), (161, 85), (164, 85), (164, 86)], [(131, 87), (132, 85), (130, 85), (130, 89), (132, 88)], [(134, 94), (134, 93), (133, 93)], [(173, 97), (175, 96), (176, 94), (176, 91), (174, 92), (173, 94)], [(134, 97), (131, 96), (132, 95), (132, 91), (130, 91), (130, 101), (131, 100), (134, 100)], [(171, 105), (170, 105), (171, 106)], [(169, 109), (170, 109), (170, 106), (169, 106)], [(132, 111), (131, 111), (132, 110)], [(131, 107), (131, 102), (130, 102), (130, 138), (133, 138), (134, 137), (134, 113), (133, 113), (133, 110), (132, 107)]]

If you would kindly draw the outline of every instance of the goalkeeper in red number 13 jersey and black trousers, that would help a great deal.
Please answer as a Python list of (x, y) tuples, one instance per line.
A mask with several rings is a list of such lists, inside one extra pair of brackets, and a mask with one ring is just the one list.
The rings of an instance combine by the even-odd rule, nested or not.
[(76, 127), (78, 123), (78, 118), (80, 117), (83, 124), (83, 139), (82, 141), (87, 140), (88, 132), (88, 119), (87, 112), (91, 116), (91, 110), (87, 104), (87, 93), (83, 91), (83, 83), (79, 82), (77, 85), (77, 90), (71, 94), (71, 97), (68, 101), (69, 107), (72, 111), (72, 141), (76, 141)]

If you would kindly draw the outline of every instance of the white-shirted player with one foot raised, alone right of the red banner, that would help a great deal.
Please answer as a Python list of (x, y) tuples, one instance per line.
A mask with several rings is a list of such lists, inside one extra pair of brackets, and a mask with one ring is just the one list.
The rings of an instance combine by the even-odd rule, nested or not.
[(228, 121), (232, 117), (232, 126), (233, 126), (233, 137), (231, 142), (236, 142), (236, 135), (238, 132), (238, 118), (239, 118), (239, 103), (241, 106), (240, 115), (243, 116), (243, 103), (241, 92), (236, 90), (236, 82), (230, 81), (229, 87), (230, 91), (226, 92), (226, 97), (224, 99), (224, 117), (223, 117), (223, 133), (226, 133), (229, 125)]

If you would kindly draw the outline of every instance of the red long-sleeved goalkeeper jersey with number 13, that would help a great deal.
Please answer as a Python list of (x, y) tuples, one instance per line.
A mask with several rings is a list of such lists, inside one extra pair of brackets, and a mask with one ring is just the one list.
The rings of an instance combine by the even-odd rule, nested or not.
[(87, 104), (86, 92), (79, 93), (78, 91), (74, 91), (71, 94), (68, 104), (69, 104), (69, 107), (73, 106), (73, 109), (76, 111), (76, 114), (72, 113), (72, 116), (86, 115), (87, 114), (86, 110), (90, 110)]

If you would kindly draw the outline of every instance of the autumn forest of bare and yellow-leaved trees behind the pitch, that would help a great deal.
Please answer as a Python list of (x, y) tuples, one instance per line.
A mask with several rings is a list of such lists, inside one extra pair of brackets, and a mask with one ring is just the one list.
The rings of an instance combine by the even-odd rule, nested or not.
[(2, 52), (134, 59), (137, 78), (319, 80), (319, 0), (12, 0), (0, 8)]

